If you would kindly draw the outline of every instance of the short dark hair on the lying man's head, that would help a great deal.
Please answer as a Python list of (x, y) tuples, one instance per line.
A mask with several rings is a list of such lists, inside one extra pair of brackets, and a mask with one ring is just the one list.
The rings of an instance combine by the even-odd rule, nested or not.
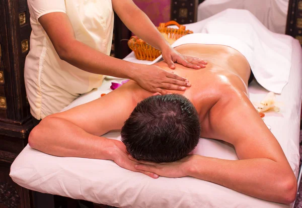
[(121, 131), (122, 142), (137, 160), (173, 162), (198, 144), (196, 109), (183, 95), (150, 96), (137, 104)]

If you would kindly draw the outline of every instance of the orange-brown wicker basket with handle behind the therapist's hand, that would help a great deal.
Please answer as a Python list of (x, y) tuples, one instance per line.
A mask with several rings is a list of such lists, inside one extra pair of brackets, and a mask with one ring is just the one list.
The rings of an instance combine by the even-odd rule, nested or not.
[[(176, 25), (179, 29), (167, 28), (167, 26), (170, 25)], [(169, 39), (174, 40), (177, 40), (187, 34), (193, 33), (193, 31), (186, 30), (185, 26), (180, 25), (175, 21), (161, 23), (158, 27), (158, 30), (161, 33), (167, 34), (167, 37)], [(136, 36), (132, 36), (130, 38), (130, 40), (128, 41), (128, 46), (132, 51), (134, 51), (135, 58), (139, 60), (153, 61), (162, 54), (161, 51), (148, 45), (146, 42)]]

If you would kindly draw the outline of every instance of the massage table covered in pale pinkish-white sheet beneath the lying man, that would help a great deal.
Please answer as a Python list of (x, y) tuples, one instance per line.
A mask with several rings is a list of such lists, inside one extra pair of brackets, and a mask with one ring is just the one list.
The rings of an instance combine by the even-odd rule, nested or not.
[[(236, 13), (236, 11), (232, 12)], [(197, 27), (196, 24), (188, 25), (193, 31), (198, 31), (200, 28), (194, 28), (195, 26)], [(291, 65), (288, 83), (282, 93), (276, 95), (277, 101), (282, 102), (283, 105), (278, 113), (266, 113), (264, 122), (271, 127), (272, 133), (280, 143), (297, 177), (302, 51), (297, 40), (293, 38), (290, 40)], [(133, 53), (129, 54), (125, 60), (150, 63), (136, 60)], [(99, 98), (101, 94), (111, 91), (112, 82), (121, 83), (123, 80), (106, 77), (101, 87), (81, 95), (63, 111)], [(249, 93), (251, 101), (261, 101), (268, 91), (254, 80), (249, 85)], [(120, 140), (119, 132), (110, 132), (104, 136)], [(234, 148), (212, 139), (201, 138), (194, 154), (229, 160), (238, 159)], [(10, 176), (16, 183), (31, 190), (117, 207), (276, 208), (292, 206), (292, 204), (265, 201), (192, 177), (153, 179), (142, 173), (120, 168), (113, 161), (56, 157), (32, 149), (28, 145), (12, 164)]]

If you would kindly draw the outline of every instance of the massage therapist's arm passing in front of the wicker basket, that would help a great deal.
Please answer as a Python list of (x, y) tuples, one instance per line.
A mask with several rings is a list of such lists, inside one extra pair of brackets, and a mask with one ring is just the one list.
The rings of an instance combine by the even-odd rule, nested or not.
[(174, 62), (194, 69), (204, 68), (207, 64), (206, 61), (183, 56), (174, 50), (146, 14), (132, 0), (123, 0), (122, 4), (120, 0), (112, 0), (112, 5), (116, 14), (129, 30), (162, 52), (163, 59), (170, 68), (175, 68)]

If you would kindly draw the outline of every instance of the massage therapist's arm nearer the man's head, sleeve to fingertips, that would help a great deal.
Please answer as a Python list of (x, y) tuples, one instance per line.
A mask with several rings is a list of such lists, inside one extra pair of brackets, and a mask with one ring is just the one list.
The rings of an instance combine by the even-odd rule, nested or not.
[(131, 63), (103, 54), (75, 39), (65, 13), (43, 15), (39, 22), (46, 31), (59, 57), (84, 71), (129, 78), (150, 92), (166, 94), (164, 89), (185, 90), (186, 78), (167, 72), (155, 65)]

